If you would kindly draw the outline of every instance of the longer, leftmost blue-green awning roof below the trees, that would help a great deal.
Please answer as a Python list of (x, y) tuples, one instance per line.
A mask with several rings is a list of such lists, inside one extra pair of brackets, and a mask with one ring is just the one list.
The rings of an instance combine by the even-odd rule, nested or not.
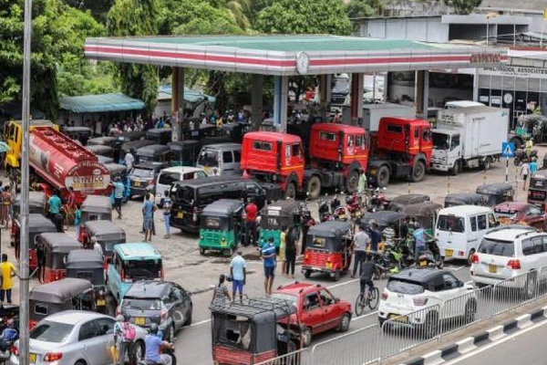
[(61, 109), (73, 113), (100, 113), (104, 111), (141, 110), (144, 102), (120, 93), (83, 95), (60, 100)]

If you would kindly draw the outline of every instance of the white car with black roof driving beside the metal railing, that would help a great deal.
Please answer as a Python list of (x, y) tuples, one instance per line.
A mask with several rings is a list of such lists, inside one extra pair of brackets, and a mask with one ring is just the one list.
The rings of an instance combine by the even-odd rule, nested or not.
[(389, 320), (386, 325), (390, 327), (419, 328), (432, 336), (439, 329), (438, 319), (462, 318), (471, 322), (477, 311), (473, 289), (446, 270), (403, 270), (389, 277), (380, 295), (379, 324)]

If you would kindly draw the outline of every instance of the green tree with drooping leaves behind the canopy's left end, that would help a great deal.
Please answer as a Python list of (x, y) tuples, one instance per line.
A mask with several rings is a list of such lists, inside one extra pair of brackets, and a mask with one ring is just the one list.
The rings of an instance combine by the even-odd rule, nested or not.
[[(160, 22), (158, 0), (116, 0), (108, 12), (109, 36), (157, 35)], [(121, 91), (129, 97), (141, 99), (149, 115), (156, 107), (158, 93), (157, 68), (152, 65), (119, 63), (116, 76)]]

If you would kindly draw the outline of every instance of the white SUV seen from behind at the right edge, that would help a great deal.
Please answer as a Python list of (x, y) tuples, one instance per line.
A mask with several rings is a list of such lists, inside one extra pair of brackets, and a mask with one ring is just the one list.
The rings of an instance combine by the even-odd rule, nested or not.
[[(471, 257), (470, 274), (477, 287), (484, 287), (534, 272), (507, 283), (508, 287), (524, 288), (532, 296), (538, 278), (535, 270), (542, 266), (547, 266), (547, 234), (528, 225), (507, 225), (484, 235)], [(547, 270), (539, 275), (547, 276)]]

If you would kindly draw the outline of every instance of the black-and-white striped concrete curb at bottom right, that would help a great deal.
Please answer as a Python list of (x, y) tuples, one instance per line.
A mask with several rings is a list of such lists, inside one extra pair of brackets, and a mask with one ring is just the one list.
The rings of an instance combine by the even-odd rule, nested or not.
[(424, 356), (409, 360), (400, 365), (439, 365), (543, 320), (547, 320), (547, 307), (524, 314), (502, 325), (492, 327), (467, 339), (461, 339), (442, 349), (436, 349)]

